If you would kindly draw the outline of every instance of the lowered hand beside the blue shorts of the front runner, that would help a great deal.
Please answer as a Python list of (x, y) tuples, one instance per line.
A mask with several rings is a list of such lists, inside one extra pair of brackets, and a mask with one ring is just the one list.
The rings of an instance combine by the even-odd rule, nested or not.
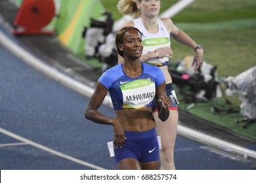
[(123, 127), (121, 126), (119, 120), (114, 120), (113, 122), (114, 126), (114, 146), (115, 147), (121, 147), (123, 146), (123, 142), (125, 141), (125, 131), (123, 130)]

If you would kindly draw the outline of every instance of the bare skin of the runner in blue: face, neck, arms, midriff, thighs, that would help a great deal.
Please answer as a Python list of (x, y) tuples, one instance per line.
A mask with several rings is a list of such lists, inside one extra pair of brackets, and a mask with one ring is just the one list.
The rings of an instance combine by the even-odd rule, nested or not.
[[(118, 46), (123, 50), (123, 71), (131, 78), (136, 78), (142, 74), (142, 64), (140, 56), (142, 54), (142, 39), (136, 29), (130, 29), (123, 35), (123, 42)], [(121, 147), (125, 141), (125, 131), (148, 131), (156, 127), (156, 122), (152, 115), (152, 108), (142, 109), (123, 109), (116, 110), (116, 118), (106, 116), (98, 112), (98, 107), (102, 105), (108, 90), (98, 82), (96, 89), (87, 108), (85, 109), (85, 118), (98, 124), (113, 125), (114, 127), (114, 146)], [(159, 116), (162, 121), (169, 117), (168, 106), (170, 99), (165, 93), (165, 82), (156, 87), (156, 99), (158, 100)], [(158, 169), (159, 161), (140, 163), (137, 159), (127, 158), (117, 163), (117, 169)]]

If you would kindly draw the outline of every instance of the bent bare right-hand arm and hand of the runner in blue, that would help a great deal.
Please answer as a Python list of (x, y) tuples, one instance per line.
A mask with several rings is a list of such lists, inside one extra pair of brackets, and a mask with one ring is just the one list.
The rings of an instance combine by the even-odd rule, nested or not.
[(165, 82), (156, 87), (156, 100), (158, 101), (158, 118), (165, 122), (169, 118), (169, 105), (171, 100), (165, 92)]

